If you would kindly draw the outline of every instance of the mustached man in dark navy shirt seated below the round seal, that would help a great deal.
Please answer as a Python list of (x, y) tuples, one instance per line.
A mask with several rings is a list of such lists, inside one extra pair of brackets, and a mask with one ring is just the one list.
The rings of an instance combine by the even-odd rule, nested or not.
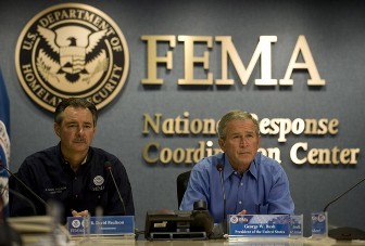
[[(97, 107), (86, 99), (63, 100), (54, 112), (59, 144), (25, 158), (16, 173), (46, 203), (60, 205), (63, 223), (66, 217), (95, 216), (98, 207), (102, 208), (104, 216), (135, 215), (131, 186), (124, 165), (115, 155), (90, 146), (97, 120)], [(12, 217), (48, 212), (47, 206), (21, 182), (14, 180), (12, 183), (13, 190), (32, 202), (14, 195), (10, 205)]]

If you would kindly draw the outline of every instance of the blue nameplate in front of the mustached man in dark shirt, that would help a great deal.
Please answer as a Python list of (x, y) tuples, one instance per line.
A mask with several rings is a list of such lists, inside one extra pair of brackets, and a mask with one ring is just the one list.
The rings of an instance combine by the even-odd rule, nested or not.
[(71, 235), (128, 235), (135, 233), (135, 217), (67, 217), (67, 228)]

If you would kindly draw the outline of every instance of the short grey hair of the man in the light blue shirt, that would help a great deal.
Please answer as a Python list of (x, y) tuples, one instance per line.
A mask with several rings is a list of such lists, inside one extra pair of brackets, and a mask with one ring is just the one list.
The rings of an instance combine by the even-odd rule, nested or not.
[(250, 113), (244, 112), (244, 111), (230, 111), (227, 114), (225, 114), (219, 122), (218, 122), (218, 137), (219, 139), (225, 139), (226, 138), (226, 127), (227, 124), (230, 122), (231, 120), (252, 120), (255, 132), (257, 135), (260, 135), (260, 126), (259, 121), (255, 117), (253, 117)]

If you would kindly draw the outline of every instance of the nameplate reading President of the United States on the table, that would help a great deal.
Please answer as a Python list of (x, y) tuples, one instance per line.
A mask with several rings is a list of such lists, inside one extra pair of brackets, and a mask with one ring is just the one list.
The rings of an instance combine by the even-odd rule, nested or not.
[(230, 215), (228, 216), (229, 237), (288, 237), (289, 215)]

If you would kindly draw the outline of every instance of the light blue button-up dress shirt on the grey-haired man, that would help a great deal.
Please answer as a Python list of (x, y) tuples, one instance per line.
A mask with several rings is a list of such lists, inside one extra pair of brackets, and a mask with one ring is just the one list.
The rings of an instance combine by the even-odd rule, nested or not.
[(243, 176), (232, 169), (225, 153), (199, 161), (191, 171), (179, 209), (192, 210), (193, 203), (203, 199), (214, 222), (223, 221), (224, 193), (217, 164), (224, 165), (226, 215), (237, 215), (243, 209), (248, 215), (294, 213), (285, 170), (279, 163), (259, 152)]

